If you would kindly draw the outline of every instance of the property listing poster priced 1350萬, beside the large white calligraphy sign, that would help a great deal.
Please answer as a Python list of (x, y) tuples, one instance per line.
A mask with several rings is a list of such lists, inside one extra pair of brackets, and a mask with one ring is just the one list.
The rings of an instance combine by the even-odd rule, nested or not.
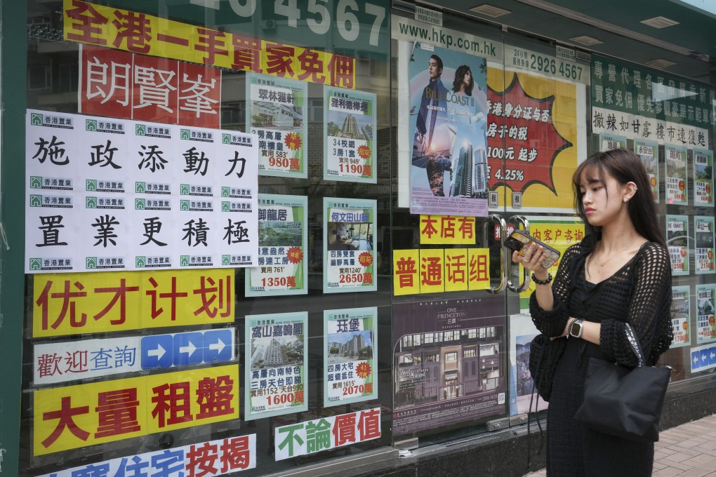
[(258, 267), (246, 269), (246, 296), (308, 292), (308, 197), (258, 195)]

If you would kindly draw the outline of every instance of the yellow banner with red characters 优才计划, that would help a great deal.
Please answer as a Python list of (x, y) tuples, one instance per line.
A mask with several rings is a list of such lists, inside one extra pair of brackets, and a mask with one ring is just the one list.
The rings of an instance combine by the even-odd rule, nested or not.
[(233, 268), (33, 275), (32, 335), (233, 323)]

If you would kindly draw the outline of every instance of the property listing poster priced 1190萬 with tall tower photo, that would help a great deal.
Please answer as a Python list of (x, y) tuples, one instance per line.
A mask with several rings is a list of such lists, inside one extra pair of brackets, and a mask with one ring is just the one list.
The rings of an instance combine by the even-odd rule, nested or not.
[(375, 94), (324, 87), (324, 104), (324, 180), (375, 184)]

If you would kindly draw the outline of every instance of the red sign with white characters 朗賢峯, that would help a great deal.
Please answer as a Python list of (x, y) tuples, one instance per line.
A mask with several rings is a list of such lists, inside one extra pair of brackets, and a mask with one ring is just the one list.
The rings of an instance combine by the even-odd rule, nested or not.
[(221, 70), (79, 46), (79, 112), (218, 129)]

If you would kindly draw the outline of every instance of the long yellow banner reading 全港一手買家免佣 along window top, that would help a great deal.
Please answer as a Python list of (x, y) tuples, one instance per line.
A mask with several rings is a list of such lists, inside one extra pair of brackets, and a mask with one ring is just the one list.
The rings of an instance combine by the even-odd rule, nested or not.
[(355, 59), (184, 24), (111, 6), (64, 0), (64, 39), (342, 88), (355, 88)]

